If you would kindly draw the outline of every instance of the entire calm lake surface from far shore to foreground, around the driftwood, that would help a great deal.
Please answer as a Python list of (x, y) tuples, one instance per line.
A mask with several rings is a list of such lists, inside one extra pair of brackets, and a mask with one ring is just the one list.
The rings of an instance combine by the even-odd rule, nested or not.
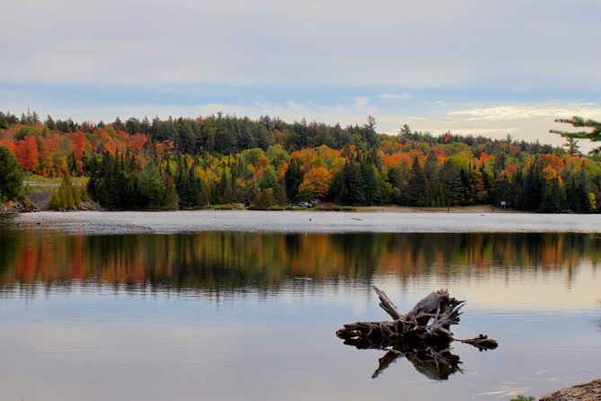
[[(529, 227), (529, 228), (528, 228)], [(0, 218), (1, 400), (508, 399), (601, 377), (601, 218), (37, 213)], [(344, 345), (432, 290), (454, 373)], [(447, 377), (446, 377), (447, 376)], [(430, 379), (437, 377), (437, 379)]]

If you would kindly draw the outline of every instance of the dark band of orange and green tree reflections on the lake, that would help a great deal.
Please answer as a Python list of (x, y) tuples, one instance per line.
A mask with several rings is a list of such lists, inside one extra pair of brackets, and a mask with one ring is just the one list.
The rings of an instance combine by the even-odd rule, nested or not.
[(565, 270), (601, 259), (596, 234), (257, 234), (68, 236), (0, 229), (0, 288), (44, 283), (165, 290), (278, 289), (290, 277), (372, 281)]

